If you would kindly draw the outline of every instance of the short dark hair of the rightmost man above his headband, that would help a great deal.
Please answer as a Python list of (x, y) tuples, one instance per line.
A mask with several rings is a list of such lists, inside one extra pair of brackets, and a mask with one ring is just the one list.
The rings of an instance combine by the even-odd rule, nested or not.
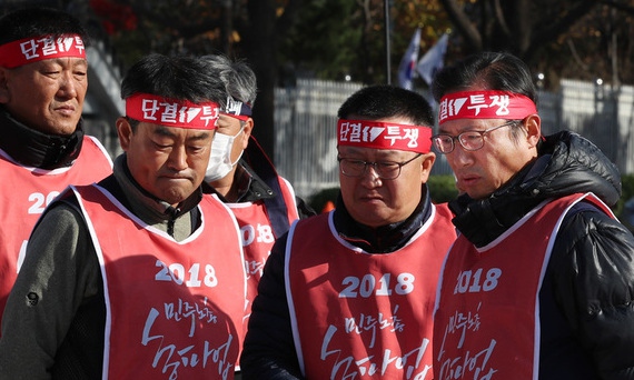
[(531, 70), (524, 61), (508, 52), (475, 53), (443, 68), (434, 77), (432, 92), (439, 102), (446, 93), (470, 87), (521, 93), (537, 104), (537, 89)]

